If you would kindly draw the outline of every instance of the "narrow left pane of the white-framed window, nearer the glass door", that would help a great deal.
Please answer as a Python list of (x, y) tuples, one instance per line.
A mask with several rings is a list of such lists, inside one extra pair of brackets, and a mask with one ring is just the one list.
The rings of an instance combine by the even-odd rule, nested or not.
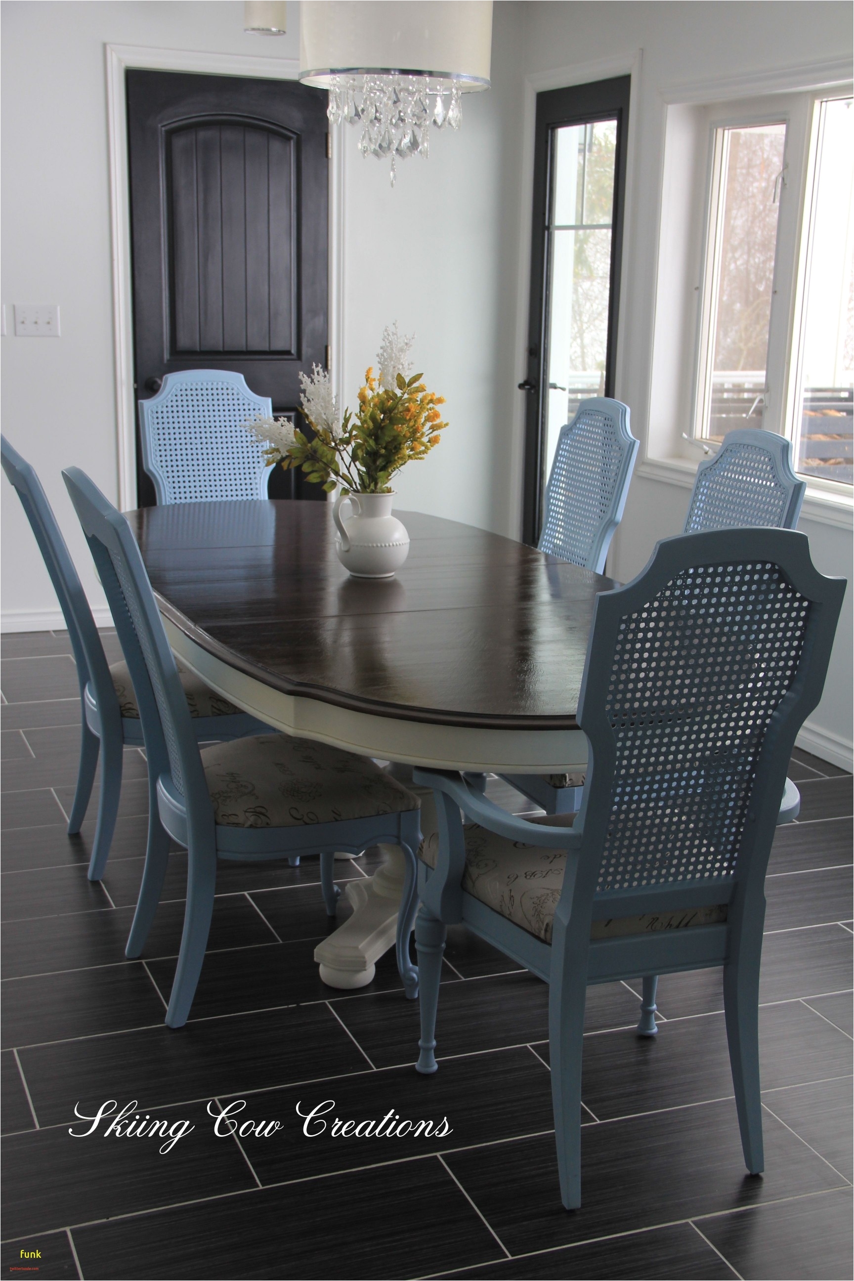
[(700, 434), (714, 441), (762, 427), (785, 142), (785, 124), (718, 131), (700, 400)]

